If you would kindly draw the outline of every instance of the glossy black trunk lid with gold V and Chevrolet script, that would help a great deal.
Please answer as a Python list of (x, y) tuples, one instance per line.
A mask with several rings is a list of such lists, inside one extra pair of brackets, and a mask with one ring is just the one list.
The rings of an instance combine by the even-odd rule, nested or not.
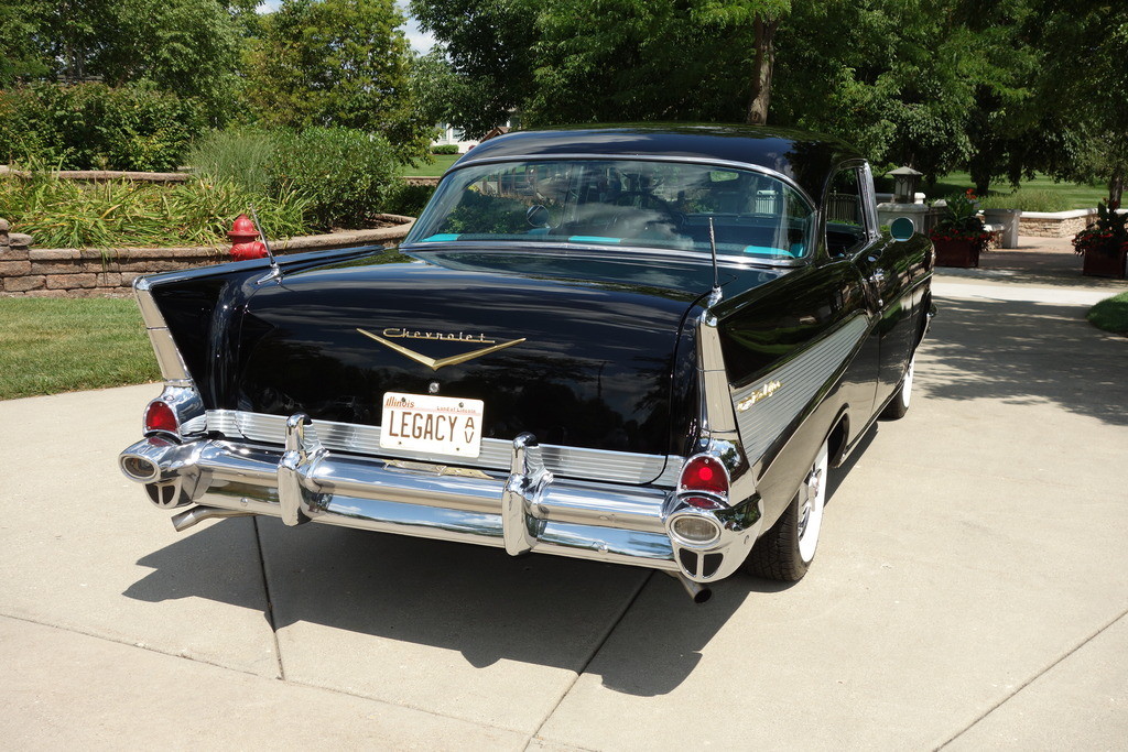
[(481, 399), (485, 439), (666, 453), (696, 276), (465, 253), (288, 274), (248, 301), (220, 391), (235, 409), (368, 425), (387, 392)]

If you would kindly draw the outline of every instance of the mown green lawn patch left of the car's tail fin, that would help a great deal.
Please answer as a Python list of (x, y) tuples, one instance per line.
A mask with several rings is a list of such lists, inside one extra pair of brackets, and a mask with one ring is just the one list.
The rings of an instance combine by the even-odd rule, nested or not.
[(159, 379), (133, 300), (0, 298), (0, 399)]

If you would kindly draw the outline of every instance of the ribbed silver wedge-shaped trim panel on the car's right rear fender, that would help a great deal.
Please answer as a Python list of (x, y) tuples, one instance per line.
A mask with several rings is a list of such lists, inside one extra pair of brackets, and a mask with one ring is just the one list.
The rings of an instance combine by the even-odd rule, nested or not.
[(744, 402), (765, 384), (778, 382), (770, 398), (737, 412), (740, 435), (751, 461), (758, 460), (770, 443), (803, 412), (827, 381), (862, 343), (869, 322), (855, 316), (821, 342), (808, 347), (783, 366), (732, 392), (734, 406)]

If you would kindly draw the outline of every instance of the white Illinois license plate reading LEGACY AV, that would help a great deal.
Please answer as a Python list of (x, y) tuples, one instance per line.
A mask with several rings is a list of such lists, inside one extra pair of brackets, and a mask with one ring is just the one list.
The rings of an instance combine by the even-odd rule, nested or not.
[(380, 446), (449, 457), (477, 457), (482, 449), (481, 399), (385, 392)]

